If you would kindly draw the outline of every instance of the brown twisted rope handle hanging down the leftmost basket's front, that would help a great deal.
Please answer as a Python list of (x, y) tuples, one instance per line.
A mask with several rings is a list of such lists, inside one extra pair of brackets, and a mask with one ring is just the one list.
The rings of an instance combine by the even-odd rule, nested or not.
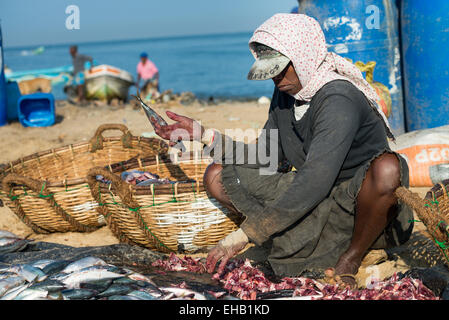
[[(52, 194), (50, 194), (47, 190), (46, 182), (45, 181), (39, 181), (33, 178), (25, 177), (22, 175), (19, 175), (17, 173), (9, 173), (2, 181), (2, 187), (3, 190), (12, 196), (13, 192), (13, 185), (24, 185), (28, 189), (36, 192), (39, 194), (39, 197), (47, 200), (52, 207), (55, 208), (55, 212), (65, 221), (70, 223), (73, 227), (76, 228), (76, 231), (80, 232), (90, 232), (94, 231), (97, 228), (85, 226), (83, 224), (80, 224), (78, 221), (76, 221), (72, 216), (68, 215), (56, 202)], [(13, 198), (13, 197), (11, 197)], [(40, 232), (40, 233), (49, 233), (48, 230), (45, 230), (44, 228), (34, 224), (28, 217), (26, 216), (25, 212), (22, 209), (22, 206), (18, 202), (18, 199), (11, 199), (12, 201), (16, 201), (16, 207), (18, 208), (17, 215), (26, 223), (28, 224), (34, 231)]]

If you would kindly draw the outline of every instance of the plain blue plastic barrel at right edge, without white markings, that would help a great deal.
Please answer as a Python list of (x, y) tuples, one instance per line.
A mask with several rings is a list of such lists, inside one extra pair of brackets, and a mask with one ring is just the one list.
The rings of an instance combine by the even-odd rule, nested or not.
[(449, 1), (402, 1), (401, 28), (407, 129), (447, 125)]

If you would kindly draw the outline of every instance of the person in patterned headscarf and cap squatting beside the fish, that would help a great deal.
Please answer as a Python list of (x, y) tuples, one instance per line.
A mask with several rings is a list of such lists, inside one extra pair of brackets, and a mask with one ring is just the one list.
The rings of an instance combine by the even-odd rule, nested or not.
[[(318, 22), (306, 15), (274, 15), (249, 47), (256, 61), (248, 79), (275, 84), (255, 161), (239, 164), (242, 142), (190, 118), (168, 111), (176, 123), (156, 124), (171, 145), (181, 138), (177, 129), (205, 144), (215, 160), (204, 175), (208, 194), (245, 217), (209, 252), (208, 272), (221, 259), (221, 273), (249, 242), (271, 243), (267, 260), (277, 275), (335, 267), (337, 279), (355, 287), (367, 251), (400, 245), (413, 229), (411, 209), (394, 195), (408, 187), (408, 166), (388, 146), (393, 135), (378, 96), (353, 64), (327, 51)], [(219, 148), (230, 140), (232, 148)], [(269, 174), (261, 149), (296, 171)]]

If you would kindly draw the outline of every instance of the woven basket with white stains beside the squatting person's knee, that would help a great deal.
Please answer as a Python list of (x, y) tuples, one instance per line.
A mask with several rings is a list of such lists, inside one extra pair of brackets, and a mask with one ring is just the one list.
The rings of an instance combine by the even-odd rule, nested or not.
[[(88, 182), (97, 209), (121, 241), (161, 252), (199, 252), (216, 245), (240, 223), (240, 217), (206, 194), (203, 175), (210, 162), (194, 157), (172, 162), (168, 155), (137, 158), (93, 168)], [(135, 186), (120, 178), (128, 170), (149, 171), (178, 182)], [(97, 181), (97, 175), (112, 183)]]

